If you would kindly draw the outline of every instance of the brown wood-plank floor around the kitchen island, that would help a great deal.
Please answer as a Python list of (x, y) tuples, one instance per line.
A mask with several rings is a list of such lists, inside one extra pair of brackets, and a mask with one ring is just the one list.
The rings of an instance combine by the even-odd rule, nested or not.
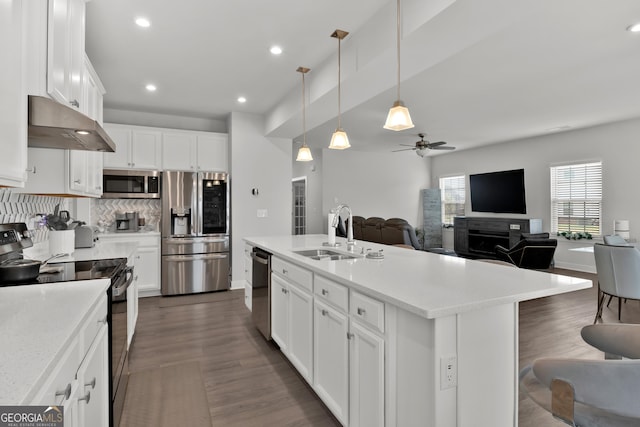
[[(592, 274), (556, 272), (595, 280)], [(580, 338), (580, 329), (593, 323), (596, 292), (594, 286), (521, 303), (520, 367), (540, 357), (601, 359), (602, 353)], [(605, 308), (603, 319), (617, 322), (615, 301)], [(637, 301), (623, 304), (622, 321), (640, 323)], [(189, 369), (194, 365), (199, 369)], [(193, 384), (194, 390), (204, 390), (206, 399), (200, 405), (208, 405), (213, 427), (340, 425), (277, 347), (258, 333), (244, 306), (243, 291), (140, 300), (129, 356), (133, 387), (127, 393), (122, 427), (209, 425), (196, 409), (182, 411), (180, 416), (187, 417), (183, 422), (157, 417), (149, 423), (147, 414), (166, 411), (180, 399), (193, 407), (189, 393), (158, 379), (169, 375), (168, 368), (176, 369), (173, 375), (191, 376), (183, 383)], [(519, 425), (565, 424), (521, 394)]]

